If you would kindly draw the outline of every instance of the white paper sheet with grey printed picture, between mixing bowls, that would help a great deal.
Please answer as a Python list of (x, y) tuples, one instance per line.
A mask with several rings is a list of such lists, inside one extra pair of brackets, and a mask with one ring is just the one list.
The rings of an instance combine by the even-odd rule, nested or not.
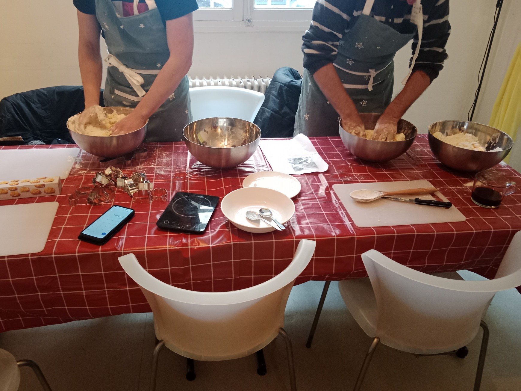
[(302, 134), (290, 140), (262, 139), (259, 145), (271, 169), (280, 173), (300, 175), (324, 172), (329, 168), (311, 141)]

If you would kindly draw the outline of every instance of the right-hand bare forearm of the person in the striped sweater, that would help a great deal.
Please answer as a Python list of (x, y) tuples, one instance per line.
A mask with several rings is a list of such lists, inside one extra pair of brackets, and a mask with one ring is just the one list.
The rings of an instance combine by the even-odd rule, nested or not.
[(398, 122), (403, 117), (405, 112), (411, 105), (418, 99), (418, 97), (429, 87), (430, 78), (429, 76), (418, 70), (414, 72), (411, 77), (407, 80), (407, 83), (403, 87), (402, 91), (394, 100), (387, 106), (383, 112), (382, 117)]

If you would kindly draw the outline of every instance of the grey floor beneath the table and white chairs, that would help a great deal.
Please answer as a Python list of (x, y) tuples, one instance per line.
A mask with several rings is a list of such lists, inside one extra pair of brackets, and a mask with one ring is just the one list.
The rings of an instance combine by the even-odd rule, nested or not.
[[(464, 272), (465, 279), (473, 279)], [(286, 310), (286, 330), (295, 355), (297, 386), (305, 390), (352, 389), (371, 342), (358, 327), (332, 283), (311, 349), (304, 344), (324, 283), (293, 288)], [(485, 321), (490, 344), (481, 390), (521, 389), (521, 295), (499, 292)], [(470, 390), (481, 333), (465, 359), (416, 358), (380, 345), (364, 390)], [(0, 334), (0, 347), (20, 359), (40, 364), (54, 391), (148, 390), (154, 326), (151, 313), (124, 314)], [(196, 362), (197, 378), (185, 380), (185, 359), (160, 353), (157, 390), (289, 390), (284, 342), (265, 349), (268, 373), (256, 373), (254, 356), (220, 362)], [(22, 368), (20, 391), (40, 390), (30, 369)]]

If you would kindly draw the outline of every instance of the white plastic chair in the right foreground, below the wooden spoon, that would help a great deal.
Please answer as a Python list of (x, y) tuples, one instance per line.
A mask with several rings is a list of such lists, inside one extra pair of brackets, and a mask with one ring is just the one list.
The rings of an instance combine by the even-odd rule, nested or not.
[[(377, 345), (415, 355), (437, 355), (467, 345), (483, 328), (474, 391), (481, 384), (489, 331), (481, 319), (498, 291), (521, 285), (521, 231), (518, 231), (494, 279), (465, 281), (418, 272), (376, 250), (362, 254), (369, 278), (343, 280), (345, 305), (364, 332), (373, 337), (354, 390), (364, 381)], [(326, 283), (327, 284), (327, 283)], [(329, 284), (327, 284), (329, 285)], [(327, 286), (320, 303), (324, 303)], [(321, 306), (306, 346), (311, 346)]]

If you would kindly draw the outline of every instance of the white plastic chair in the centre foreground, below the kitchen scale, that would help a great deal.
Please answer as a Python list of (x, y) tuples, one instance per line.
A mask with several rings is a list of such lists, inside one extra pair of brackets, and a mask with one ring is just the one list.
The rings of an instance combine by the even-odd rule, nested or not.
[(280, 334), (286, 341), (291, 390), (296, 390), (291, 341), (284, 309), (295, 282), (315, 251), (316, 243), (301, 240), (290, 265), (270, 280), (229, 292), (197, 292), (170, 286), (148, 274), (134, 254), (119, 263), (140, 286), (154, 313), (159, 343), (154, 350), (151, 390), (155, 390), (158, 353), (163, 346), (200, 361), (229, 360), (251, 355)]

